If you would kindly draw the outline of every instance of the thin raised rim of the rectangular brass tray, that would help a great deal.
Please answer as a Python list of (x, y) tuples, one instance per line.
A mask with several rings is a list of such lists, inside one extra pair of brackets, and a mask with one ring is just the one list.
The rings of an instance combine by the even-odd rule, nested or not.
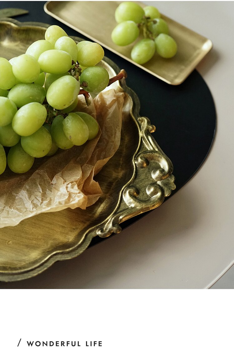
[[(62, 3), (63, 1), (59, 1), (59, 3)], [(68, 3), (69, 1), (65, 1), (65, 3)], [(77, 3), (80, 1), (77, 1)], [(112, 1), (113, 2), (113, 1)], [(114, 1), (115, 3), (119, 3), (117, 1)], [(110, 47), (109, 45), (105, 44), (105, 42), (102, 42), (100, 40), (97, 39), (97, 37), (90, 35), (88, 32), (81, 30), (79, 27), (73, 26), (72, 24), (70, 24), (69, 22), (65, 21), (62, 17), (56, 15), (55, 13), (53, 13), (52, 11), (50, 11), (48, 9), (48, 5), (51, 3), (55, 3), (55, 1), (47, 1), (44, 4), (44, 11), (45, 13), (47, 13), (48, 15), (50, 15), (51, 17), (55, 18), (56, 20), (64, 23), (66, 26), (69, 26), (70, 28), (72, 28), (75, 31), (78, 31), (79, 33), (81, 33), (82, 35), (90, 38), (91, 40), (98, 42), (100, 45), (104, 46), (106, 49), (112, 51), (113, 53), (115, 53), (116, 55), (119, 55), (121, 58), (127, 60), (128, 62), (134, 64), (135, 66), (141, 68), (142, 70), (150, 73), (151, 75), (159, 78), (160, 80), (166, 82), (169, 85), (180, 85), (182, 84), (187, 77), (192, 73), (192, 71), (196, 68), (196, 66), (199, 64), (199, 62), (201, 62), (201, 60), (207, 55), (207, 53), (213, 48), (213, 44), (212, 41), (210, 39), (208, 39), (207, 37), (204, 37), (200, 34), (198, 34), (197, 32), (183, 26), (182, 24), (174, 21), (173, 19), (166, 17), (165, 15), (161, 14), (161, 16), (166, 20), (166, 21), (170, 21), (173, 22), (174, 24), (176, 24), (178, 27), (183, 28), (184, 30), (189, 31), (190, 33), (192, 33), (193, 35), (196, 35), (197, 37), (203, 37), (205, 44), (205, 50), (203, 50), (203, 53), (200, 54), (195, 60), (191, 61), (190, 66), (186, 67), (186, 71), (184, 71), (184, 75), (182, 78), (178, 79), (178, 80), (169, 80), (169, 78), (167, 78), (166, 76), (160, 76), (157, 72), (151, 71), (150, 69), (148, 69), (146, 66), (137, 64), (136, 62), (134, 62), (131, 58), (125, 56), (124, 54), (121, 54), (118, 50), (115, 50), (114, 48)], [(105, 3), (109, 3), (109, 1), (105, 1)], [(142, 4), (138, 1), (138, 3), (142, 6), (145, 6), (145, 4)]]

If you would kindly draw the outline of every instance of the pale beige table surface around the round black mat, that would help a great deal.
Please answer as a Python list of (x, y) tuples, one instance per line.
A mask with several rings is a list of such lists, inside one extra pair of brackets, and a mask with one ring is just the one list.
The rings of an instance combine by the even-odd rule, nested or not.
[[(213, 42), (197, 67), (217, 111), (208, 158), (173, 197), (122, 233), (35, 278), (0, 288), (208, 288), (233, 264), (234, 3), (144, 3)], [(234, 269), (214, 288), (234, 288)]]

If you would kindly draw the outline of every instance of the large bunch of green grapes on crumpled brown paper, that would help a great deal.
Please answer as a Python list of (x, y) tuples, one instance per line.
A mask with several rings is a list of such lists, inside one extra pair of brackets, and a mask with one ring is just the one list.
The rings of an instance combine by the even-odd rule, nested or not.
[(103, 57), (99, 44), (76, 44), (52, 25), (25, 54), (0, 58), (0, 174), (7, 164), (24, 173), (35, 158), (96, 137), (95, 118), (75, 107), (79, 94), (88, 99), (109, 84), (106, 69), (96, 65)]

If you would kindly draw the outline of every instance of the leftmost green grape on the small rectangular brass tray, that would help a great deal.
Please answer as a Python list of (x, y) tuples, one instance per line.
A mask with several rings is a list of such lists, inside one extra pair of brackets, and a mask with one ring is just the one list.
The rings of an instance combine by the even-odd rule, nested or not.
[(132, 44), (139, 36), (140, 30), (134, 21), (119, 23), (111, 33), (111, 40), (119, 46)]

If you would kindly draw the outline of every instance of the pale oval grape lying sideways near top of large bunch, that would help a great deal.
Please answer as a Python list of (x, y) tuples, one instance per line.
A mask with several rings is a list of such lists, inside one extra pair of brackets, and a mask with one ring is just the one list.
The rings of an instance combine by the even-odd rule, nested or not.
[(46, 50), (40, 55), (38, 63), (42, 71), (50, 74), (62, 74), (71, 68), (72, 57), (63, 50)]

